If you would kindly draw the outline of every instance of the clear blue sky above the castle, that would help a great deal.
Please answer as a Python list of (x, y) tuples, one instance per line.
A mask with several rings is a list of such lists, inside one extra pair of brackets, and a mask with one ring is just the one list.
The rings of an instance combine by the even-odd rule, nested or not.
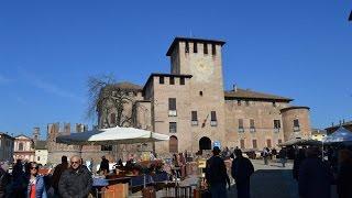
[[(127, 3), (128, 2), (128, 3)], [(294, 98), (315, 128), (352, 120), (352, 2), (0, 2), (0, 131), (84, 122), (88, 76), (144, 85), (174, 36), (220, 38), (224, 85)]]

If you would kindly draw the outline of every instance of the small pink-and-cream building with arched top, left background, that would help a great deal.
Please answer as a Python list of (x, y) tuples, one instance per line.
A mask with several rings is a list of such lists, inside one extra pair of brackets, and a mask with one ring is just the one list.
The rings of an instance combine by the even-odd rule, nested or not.
[(28, 162), (34, 161), (34, 142), (33, 139), (25, 136), (23, 134), (18, 135), (14, 138), (14, 152), (13, 158), (14, 160), (22, 160)]

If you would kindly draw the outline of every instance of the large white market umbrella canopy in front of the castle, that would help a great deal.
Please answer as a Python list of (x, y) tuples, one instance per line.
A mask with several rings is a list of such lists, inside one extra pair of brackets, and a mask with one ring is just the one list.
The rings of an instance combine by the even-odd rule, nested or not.
[(167, 141), (168, 135), (135, 128), (108, 128), (56, 138), (57, 143), (77, 145), (133, 144)]

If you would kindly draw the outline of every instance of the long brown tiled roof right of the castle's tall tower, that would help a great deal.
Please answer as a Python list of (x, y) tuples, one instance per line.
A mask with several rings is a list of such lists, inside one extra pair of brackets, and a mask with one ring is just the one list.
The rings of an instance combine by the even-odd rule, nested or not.
[(278, 100), (278, 101), (293, 101), (290, 98), (275, 96), (275, 95), (268, 95), (257, 91), (252, 91), (249, 89), (240, 89), (237, 88), (237, 90), (231, 91), (224, 91), (226, 98), (235, 98), (235, 99), (256, 99), (256, 100)]

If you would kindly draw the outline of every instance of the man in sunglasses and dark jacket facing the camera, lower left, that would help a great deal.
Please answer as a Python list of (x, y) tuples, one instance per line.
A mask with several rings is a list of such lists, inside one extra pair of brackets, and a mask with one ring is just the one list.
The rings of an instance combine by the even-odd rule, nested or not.
[(63, 198), (86, 198), (92, 186), (91, 173), (80, 164), (80, 157), (70, 158), (70, 167), (66, 169), (59, 182), (58, 193)]

